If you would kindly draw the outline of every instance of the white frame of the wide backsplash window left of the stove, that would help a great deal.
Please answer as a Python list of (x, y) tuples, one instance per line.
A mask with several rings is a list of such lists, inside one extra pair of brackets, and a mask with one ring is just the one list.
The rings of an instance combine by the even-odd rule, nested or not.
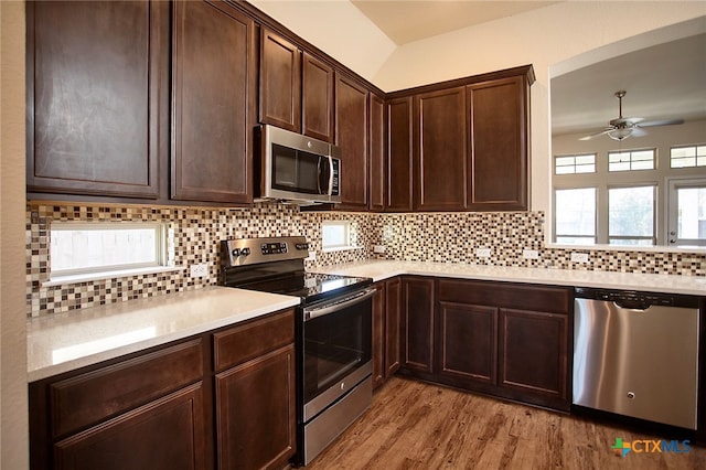
[[(64, 231), (154, 231), (153, 259), (140, 263), (105, 264), (89, 267), (53, 269), (52, 268), (52, 233)], [(119, 277), (143, 273), (159, 273), (173, 269), (173, 256), (168, 253), (168, 227), (161, 222), (52, 222), (50, 231), (50, 279), (52, 284), (72, 282)], [(55, 255), (54, 255), (55, 256)]]

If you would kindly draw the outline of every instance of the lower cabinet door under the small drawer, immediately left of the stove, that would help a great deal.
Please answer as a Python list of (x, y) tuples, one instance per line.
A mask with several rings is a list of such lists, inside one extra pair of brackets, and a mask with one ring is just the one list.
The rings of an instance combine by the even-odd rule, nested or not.
[(220, 469), (280, 469), (296, 451), (295, 346), (216, 374)]

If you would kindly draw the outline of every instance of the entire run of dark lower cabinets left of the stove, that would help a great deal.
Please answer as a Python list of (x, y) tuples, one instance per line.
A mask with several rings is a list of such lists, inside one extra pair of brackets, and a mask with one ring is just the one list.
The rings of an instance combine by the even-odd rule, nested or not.
[(293, 331), (288, 309), (30, 383), (31, 469), (286, 467)]

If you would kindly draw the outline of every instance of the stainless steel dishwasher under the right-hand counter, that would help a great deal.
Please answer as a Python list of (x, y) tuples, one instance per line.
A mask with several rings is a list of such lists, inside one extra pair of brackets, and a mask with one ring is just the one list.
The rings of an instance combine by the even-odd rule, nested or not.
[(696, 429), (698, 298), (576, 288), (574, 404)]

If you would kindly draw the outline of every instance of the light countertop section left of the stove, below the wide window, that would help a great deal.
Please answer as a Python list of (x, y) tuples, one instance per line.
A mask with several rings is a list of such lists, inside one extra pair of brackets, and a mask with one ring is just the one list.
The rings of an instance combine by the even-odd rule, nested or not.
[(207, 287), (28, 320), (28, 380), (181, 340), (299, 305), (277, 293)]

